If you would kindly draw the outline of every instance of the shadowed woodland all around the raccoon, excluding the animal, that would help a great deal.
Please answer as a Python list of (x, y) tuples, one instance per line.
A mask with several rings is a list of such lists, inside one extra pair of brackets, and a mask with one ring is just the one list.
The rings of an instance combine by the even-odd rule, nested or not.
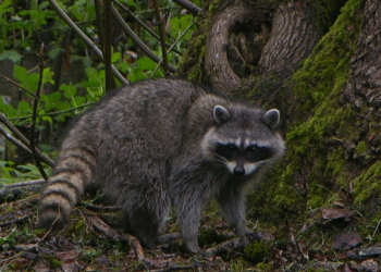
[[(380, 1), (62, 2), (0, 2), (1, 271), (381, 271)], [(144, 250), (97, 191), (62, 232), (37, 230), (66, 124), (162, 76), (280, 110), (287, 152), (249, 194), (253, 233), (211, 205), (200, 254), (175, 214)]]

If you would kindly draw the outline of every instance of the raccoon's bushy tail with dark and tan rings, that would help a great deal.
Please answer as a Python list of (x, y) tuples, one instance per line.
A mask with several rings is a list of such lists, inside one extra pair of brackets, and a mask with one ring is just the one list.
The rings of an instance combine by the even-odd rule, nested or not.
[(96, 153), (89, 148), (62, 150), (54, 175), (41, 194), (37, 227), (58, 231), (91, 182)]

